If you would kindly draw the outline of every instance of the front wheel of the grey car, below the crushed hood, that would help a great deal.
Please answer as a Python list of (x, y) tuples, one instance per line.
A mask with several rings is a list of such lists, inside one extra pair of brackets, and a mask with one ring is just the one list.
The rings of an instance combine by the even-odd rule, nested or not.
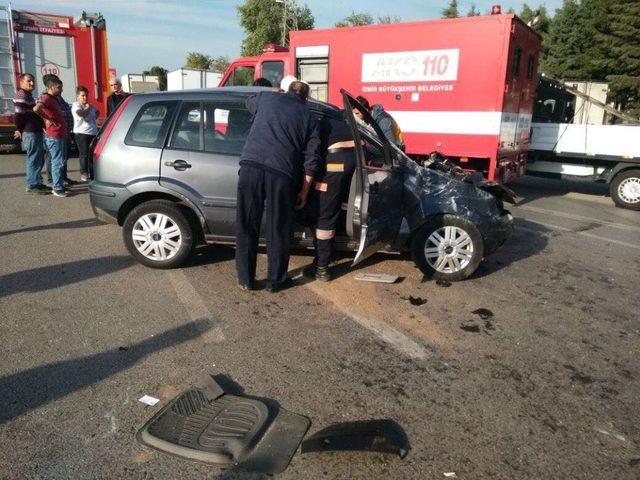
[(427, 221), (411, 241), (413, 261), (426, 278), (464, 280), (476, 271), (484, 255), (477, 227), (456, 215)]

